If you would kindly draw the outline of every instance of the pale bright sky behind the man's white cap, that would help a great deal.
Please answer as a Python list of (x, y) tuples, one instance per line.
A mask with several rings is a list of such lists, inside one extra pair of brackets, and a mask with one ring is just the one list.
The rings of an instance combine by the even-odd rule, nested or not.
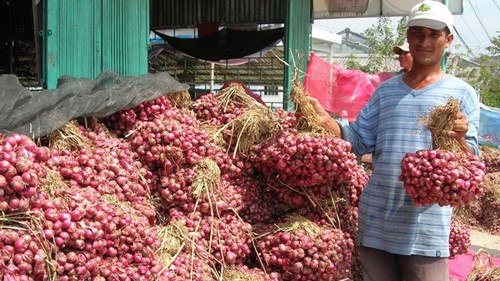
[[(456, 35), (451, 50), (469, 57), (487, 54), (485, 48), (491, 45), (491, 40), (500, 37), (500, 0), (462, 0), (462, 3), (463, 14), (453, 16)], [(396, 26), (400, 17), (390, 19)], [(377, 21), (377, 17), (317, 19), (314, 26), (334, 33), (346, 28), (362, 33)]]

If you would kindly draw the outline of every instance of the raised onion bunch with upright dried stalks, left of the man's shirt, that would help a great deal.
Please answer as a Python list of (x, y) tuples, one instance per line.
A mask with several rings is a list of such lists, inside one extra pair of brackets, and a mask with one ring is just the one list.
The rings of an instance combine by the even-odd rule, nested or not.
[(248, 160), (255, 170), (275, 175), (291, 187), (311, 187), (347, 179), (357, 165), (351, 144), (325, 130), (297, 78), (291, 99), (297, 131), (287, 130), (255, 146)]

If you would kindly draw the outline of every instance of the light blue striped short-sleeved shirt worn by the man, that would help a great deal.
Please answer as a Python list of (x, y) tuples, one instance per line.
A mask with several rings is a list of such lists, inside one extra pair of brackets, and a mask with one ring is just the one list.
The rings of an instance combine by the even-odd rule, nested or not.
[(374, 170), (359, 204), (358, 240), (395, 254), (448, 257), (452, 208), (414, 207), (399, 180), (400, 163), (407, 152), (432, 148), (431, 133), (419, 119), (450, 97), (467, 115), (466, 141), (477, 154), (479, 101), (469, 84), (452, 75), (419, 90), (402, 77), (382, 83), (356, 121), (342, 127), (354, 153), (373, 153)]

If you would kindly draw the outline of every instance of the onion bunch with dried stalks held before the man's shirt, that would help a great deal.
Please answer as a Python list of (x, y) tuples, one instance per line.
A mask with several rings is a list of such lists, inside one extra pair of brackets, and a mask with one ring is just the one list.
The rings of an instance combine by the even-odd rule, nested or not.
[(406, 153), (401, 160), (399, 179), (417, 207), (455, 207), (483, 194), (484, 163), (479, 156), (461, 151), (458, 141), (447, 136), (459, 112), (459, 102), (453, 98), (432, 108), (429, 116), (421, 119), (432, 133), (432, 149)]

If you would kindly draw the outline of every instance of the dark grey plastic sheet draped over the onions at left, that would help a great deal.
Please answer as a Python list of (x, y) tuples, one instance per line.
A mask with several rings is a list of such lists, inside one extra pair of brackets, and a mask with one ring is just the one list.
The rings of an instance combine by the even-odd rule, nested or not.
[(38, 138), (78, 117), (106, 117), (188, 89), (167, 73), (120, 76), (103, 71), (96, 80), (62, 76), (57, 89), (31, 92), (15, 75), (1, 75), (0, 132)]

